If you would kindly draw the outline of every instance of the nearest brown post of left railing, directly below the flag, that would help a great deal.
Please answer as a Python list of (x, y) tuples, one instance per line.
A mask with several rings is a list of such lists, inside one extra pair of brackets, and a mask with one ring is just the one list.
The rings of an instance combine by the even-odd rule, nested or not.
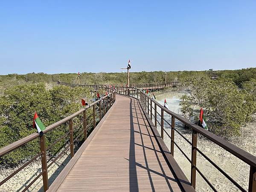
[(46, 157), (46, 147), (45, 147), (45, 135), (40, 137), (40, 150), (43, 154), (41, 154), (41, 163), (42, 163), (42, 172), (43, 173), (43, 184), (44, 191), (48, 189), (48, 172), (47, 172), (47, 157)]

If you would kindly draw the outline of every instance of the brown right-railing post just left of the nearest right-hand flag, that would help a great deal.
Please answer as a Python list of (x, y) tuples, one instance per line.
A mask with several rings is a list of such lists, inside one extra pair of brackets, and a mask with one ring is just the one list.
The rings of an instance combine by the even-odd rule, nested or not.
[(192, 152), (191, 152), (191, 185), (195, 189), (195, 176), (196, 176), (196, 146), (197, 146), (197, 131), (192, 131)]

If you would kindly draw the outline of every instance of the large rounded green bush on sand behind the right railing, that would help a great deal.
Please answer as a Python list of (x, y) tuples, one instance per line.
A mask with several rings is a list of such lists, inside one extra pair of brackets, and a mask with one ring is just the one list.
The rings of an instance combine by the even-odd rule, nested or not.
[(207, 76), (184, 81), (189, 93), (182, 96), (184, 115), (198, 121), (198, 109), (204, 108), (209, 131), (222, 137), (239, 135), (242, 125), (252, 118), (253, 101), (246, 90), (239, 90), (232, 81), (211, 80)]

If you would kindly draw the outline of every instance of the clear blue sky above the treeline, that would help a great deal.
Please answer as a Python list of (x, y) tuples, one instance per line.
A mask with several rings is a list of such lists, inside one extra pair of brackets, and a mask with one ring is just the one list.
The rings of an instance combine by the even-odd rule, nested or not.
[(2, 0), (0, 74), (256, 67), (256, 0)]

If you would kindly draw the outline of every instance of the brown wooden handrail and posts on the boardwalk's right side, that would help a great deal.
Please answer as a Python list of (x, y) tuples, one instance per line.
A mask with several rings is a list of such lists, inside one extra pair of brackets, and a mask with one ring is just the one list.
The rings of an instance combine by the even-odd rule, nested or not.
[[(130, 91), (133, 92), (134, 89), (137, 90), (137, 91), (134, 91), (134, 93), (137, 93), (137, 97), (140, 96), (139, 99), (142, 102), (142, 105), (144, 106), (145, 111), (147, 111), (146, 109), (149, 108), (149, 105), (151, 105), (150, 108), (152, 109), (152, 105), (154, 104), (154, 115), (153, 116), (155, 118), (155, 123), (154, 123), (155, 127), (157, 127), (157, 122), (158, 122), (157, 114), (161, 116), (160, 126), (161, 126), (161, 137), (162, 138), (163, 138), (163, 120), (165, 120), (164, 117), (163, 117), (163, 112), (166, 112), (167, 114), (172, 116), (171, 136), (169, 134), (167, 134), (171, 139), (171, 151), (170, 151), (170, 153), (172, 154), (172, 156), (174, 155), (174, 144), (179, 148), (177, 143), (175, 143), (175, 141), (174, 141), (174, 137), (175, 137), (174, 133), (175, 133), (175, 131), (177, 132), (177, 130), (175, 129), (175, 119), (178, 119), (180, 122), (183, 122), (185, 125), (187, 125), (189, 128), (192, 129), (192, 143), (189, 142), (192, 145), (191, 146), (192, 157), (191, 157), (191, 160), (189, 160), (189, 159), (188, 160), (191, 163), (191, 185), (194, 188), (195, 188), (195, 183), (196, 183), (195, 182), (196, 181), (196, 173), (195, 172), (197, 171), (204, 178), (204, 180), (209, 184), (209, 186), (213, 190), (216, 190), (214, 188), (214, 186), (212, 186), (212, 184), (209, 183), (209, 180), (207, 180), (207, 178), (204, 177), (204, 175), (196, 167), (196, 151), (199, 151), (199, 149), (196, 146), (197, 134), (201, 134), (204, 137), (208, 138), (213, 143), (219, 145), (221, 148), (230, 152), (231, 154), (238, 157), (240, 160), (242, 160), (244, 163), (247, 163), (250, 166), (248, 191), (249, 192), (256, 192), (256, 157), (255, 156), (253, 156), (252, 154), (242, 150), (241, 148), (237, 147), (236, 145), (233, 145), (233, 144), (227, 142), (226, 140), (222, 139), (221, 137), (218, 137), (215, 134), (212, 134), (211, 132), (205, 130), (204, 128), (201, 128), (200, 126), (198, 126), (195, 123), (189, 121), (188, 119), (184, 118), (183, 116), (180, 116), (177, 113), (174, 113), (173, 111), (170, 111), (167, 108), (164, 108), (163, 105), (160, 105), (160, 103), (158, 103), (154, 99), (151, 99), (150, 96), (143, 93), (142, 90), (139, 90), (139, 89), (133, 88), (133, 87), (117, 87), (117, 93), (127, 95), (127, 96), (131, 96), (128, 93)], [(134, 97), (134, 98), (137, 99), (136, 97)], [(157, 107), (160, 108), (161, 114), (159, 114), (157, 112)], [(149, 115), (148, 111), (147, 111), (147, 113)], [(151, 111), (151, 115), (152, 115), (152, 111)], [(181, 152), (183, 152), (183, 151), (181, 151)], [(202, 153), (201, 151), (199, 151), (199, 152)], [(207, 156), (205, 155), (205, 157), (207, 157)], [(186, 157), (186, 158), (188, 158), (188, 157)], [(206, 158), (206, 160), (209, 161), (208, 158)], [(209, 161), (209, 162), (213, 163), (212, 161)], [(215, 166), (215, 165), (213, 164), (213, 166)], [(217, 169), (219, 171), (221, 171), (222, 174), (224, 174), (224, 176), (227, 177), (241, 191), (246, 191), (236, 181), (234, 181), (230, 176), (228, 176), (221, 168), (218, 167)]]

